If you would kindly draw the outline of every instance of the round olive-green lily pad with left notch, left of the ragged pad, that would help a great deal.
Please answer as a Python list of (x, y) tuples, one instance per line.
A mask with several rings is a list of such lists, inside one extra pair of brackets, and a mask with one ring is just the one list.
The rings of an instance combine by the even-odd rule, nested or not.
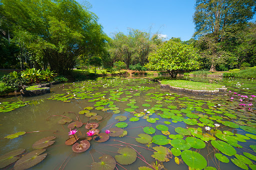
[(134, 163), (137, 159), (137, 153), (131, 148), (119, 148), (118, 154), (114, 158), (121, 165), (130, 165)]

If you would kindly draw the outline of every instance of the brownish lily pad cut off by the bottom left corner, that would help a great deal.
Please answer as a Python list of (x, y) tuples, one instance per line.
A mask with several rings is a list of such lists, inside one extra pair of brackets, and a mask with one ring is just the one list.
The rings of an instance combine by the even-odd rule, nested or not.
[(24, 153), (24, 149), (17, 149), (11, 152), (8, 152), (7, 154), (4, 154), (0, 156), (0, 169), (11, 165), (12, 163), (15, 163), (20, 157), (16, 157), (22, 153)]

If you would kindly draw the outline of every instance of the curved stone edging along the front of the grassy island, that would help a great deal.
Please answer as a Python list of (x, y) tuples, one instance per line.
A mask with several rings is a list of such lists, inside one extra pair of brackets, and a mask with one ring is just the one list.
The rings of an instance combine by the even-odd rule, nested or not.
[(191, 90), (191, 89), (186, 89), (181, 87), (169, 86), (168, 84), (161, 84), (161, 81), (159, 80), (157, 80), (157, 82), (161, 88), (168, 88), (170, 90), (196, 94), (196, 95), (218, 95), (220, 92), (226, 92), (227, 90), (227, 88), (216, 88), (216, 90)]

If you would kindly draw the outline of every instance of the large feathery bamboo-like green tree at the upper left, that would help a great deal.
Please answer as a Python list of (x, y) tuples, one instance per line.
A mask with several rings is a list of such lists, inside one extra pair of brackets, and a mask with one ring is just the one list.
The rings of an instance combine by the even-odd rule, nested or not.
[(75, 0), (1, 0), (0, 8), (30, 59), (59, 74), (67, 74), (80, 55), (105, 50), (106, 35), (96, 15)]

